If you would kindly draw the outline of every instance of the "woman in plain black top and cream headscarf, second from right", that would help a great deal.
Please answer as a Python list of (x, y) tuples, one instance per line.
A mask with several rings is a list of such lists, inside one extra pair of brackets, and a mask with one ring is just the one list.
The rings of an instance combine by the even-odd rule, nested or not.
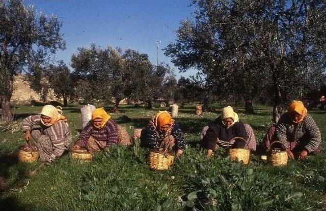
[(233, 108), (228, 106), (222, 110), (219, 118), (202, 130), (201, 143), (207, 149), (207, 157), (210, 157), (216, 148), (228, 147), (229, 141), (234, 137), (248, 140), (248, 146), (243, 142), (233, 141), (230, 143), (233, 147), (244, 147), (256, 151), (256, 138), (253, 129), (250, 125), (243, 124)]

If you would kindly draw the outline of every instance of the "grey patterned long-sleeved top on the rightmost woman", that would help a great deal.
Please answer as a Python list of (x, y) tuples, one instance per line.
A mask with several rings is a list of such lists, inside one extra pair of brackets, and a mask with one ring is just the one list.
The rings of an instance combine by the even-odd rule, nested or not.
[(288, 113), (283, 114), (276, 126), (276, 136), (286, 147), (289, 140), (307, 138), (304, 147), (309, 153), (316, 150), (321, 143), (320, 130), (309, 114), (300, 123), (293, 123)]

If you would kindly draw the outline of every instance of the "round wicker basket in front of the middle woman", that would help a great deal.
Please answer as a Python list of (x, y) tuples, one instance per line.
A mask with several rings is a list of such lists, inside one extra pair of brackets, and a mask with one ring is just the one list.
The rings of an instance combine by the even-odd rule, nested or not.
[(172, 165), (173, 160), (174, 157), (171, 154), (168, 154), (167, 157), (164, 154), (153, 151), (150, 151), (148, 154), (148, 165), (150, 169), (168, 169)]

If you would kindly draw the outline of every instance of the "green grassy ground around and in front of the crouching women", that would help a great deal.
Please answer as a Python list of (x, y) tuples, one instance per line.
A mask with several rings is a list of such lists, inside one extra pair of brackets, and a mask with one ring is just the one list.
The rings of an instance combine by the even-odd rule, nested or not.
[[(81, 127), (80, 105), (64, 108), (76, 140)], [(220, 110), (222, 105), (215, 105)], [(108, 108), (107, 108), (108, 109)], [(240, 119), (252, 125), (258, 142), (270, 125), (271, 108), (254, 107), (255, 115)], [(41, 107), (16, 105), (16, 125)], [(129, 134), (145, 127), (158, 111), (122, 105), (112, 117)], [(219, 116), (193, 114), (194, 105), (179, 109), (176, 121), (188, 142), (181, 159), (170, 170), (152, 171), (146, 164), (147, 149), (114, 147), (98, 153), (91, 163), (80, 163), (64, 154), (54, 163), (19, 163), (17, 149), (23, 134), (14, 129), (1, 133), (0, 210), (325, 210), (326, 154), (322, 151), (304, 161), (271, 167), (251, 155), (249, 165), (231, 162), (223, 150), (211, 159), (198, 146), (202, 127)], [(314, 110), (323, 137), (325, 112)], [(126, 115), (131, 121), (121, 116)], [(13, 127), (13, 126), (12, 126)], [(7, 128), (7, 125), (2, 125)], [(325, 144), (322, 144), (323, 148)]]

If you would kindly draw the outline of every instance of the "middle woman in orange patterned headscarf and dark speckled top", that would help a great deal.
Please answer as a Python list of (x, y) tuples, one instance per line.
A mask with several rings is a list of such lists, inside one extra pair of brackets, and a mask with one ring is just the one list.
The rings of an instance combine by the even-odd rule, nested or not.
[(181, 128), (167, 111), (158, 112), (152, 117), (147, 128), (142, 131), (141, 141), (149, 148), (165, 153), (175, 147), (177, 158), (185, 149)]

